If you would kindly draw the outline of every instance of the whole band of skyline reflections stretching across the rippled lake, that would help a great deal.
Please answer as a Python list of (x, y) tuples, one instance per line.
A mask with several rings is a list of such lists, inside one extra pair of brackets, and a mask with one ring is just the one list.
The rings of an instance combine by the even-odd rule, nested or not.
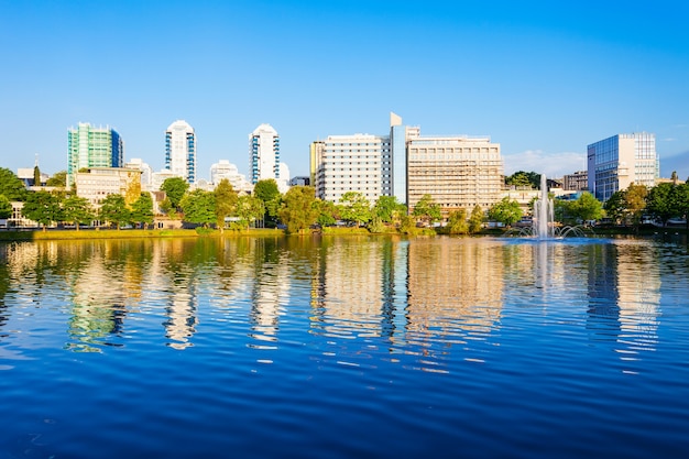
[[(309, 331), (338, 341), (337, 352), (347, 352), (346, 340), (370, 339), (389, 346), (393, 361), (404, 349), (418, 353), (415, 364), (423, 369), (445, 371), (442, 356), (451, 347), (461, 346), (467, 360), (484, 361), (499, 345), (508, 295), (511, 307), (538, 307), (544, 317), (579, 308), (572, 317), (582, 319), (589, 340), (634, 362), (658, 341), (657, 252), (635, 240), (449, 237), (4, 244), (0, 337), (14, 312), (50, 302), (68, 317), (66, 346), (75, 351), (124, 342), (128, 325), (136, 324), (127, 323), (132, 314), (154, 317), (167, 346), (182, 350), (193, 345), (204, 302), (214, 320), (248, 326), (250, 347), (272, 349), (289, 307), (306, 312)], [(625, 371), (634, 371), (632, 363)]]

